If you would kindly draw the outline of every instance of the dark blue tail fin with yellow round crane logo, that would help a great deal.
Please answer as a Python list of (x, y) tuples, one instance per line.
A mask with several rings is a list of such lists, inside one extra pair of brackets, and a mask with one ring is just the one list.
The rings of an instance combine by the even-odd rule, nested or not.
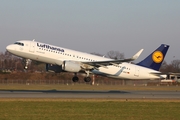
[(165, 55), (168, 51), (168, 48), (169, 45), (162, 44), (159, 48), (157, 48), (154, 52), (152, 52), (149, 56), (147, 56), (137, 65), (159, 71)]

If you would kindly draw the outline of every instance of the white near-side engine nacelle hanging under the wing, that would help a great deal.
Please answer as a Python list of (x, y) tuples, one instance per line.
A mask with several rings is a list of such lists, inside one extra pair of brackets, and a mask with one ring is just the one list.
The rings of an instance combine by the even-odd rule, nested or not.
[(62, 70), (67, 72), (79, 72), (81, 70), (80, 63), (75, 61), (64, 61), (62, 64)]

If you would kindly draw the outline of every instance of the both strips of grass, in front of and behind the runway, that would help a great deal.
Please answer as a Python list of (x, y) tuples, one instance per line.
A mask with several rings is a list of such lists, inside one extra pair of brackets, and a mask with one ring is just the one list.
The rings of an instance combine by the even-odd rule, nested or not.
[[(0, 90), (156, 90), (179, 86), (24, 85), (4, 84)], [(0, 120), (179, 120), (180, 100), (141, 99), (3, 99)]]

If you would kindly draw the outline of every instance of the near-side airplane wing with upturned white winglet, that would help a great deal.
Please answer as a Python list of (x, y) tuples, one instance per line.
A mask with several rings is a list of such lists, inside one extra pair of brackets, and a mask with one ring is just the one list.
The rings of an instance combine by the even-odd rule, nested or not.
[(107, 65), (118, 65), (122, 62), (130, 62), (133, 60), (136, 60), (142, 53), (144, 49), (141, 49), (140, 51), (138, 51), (132, 58), (128, 58), (128, 59), (119, 59), (119, 60), (108, 60), (108, 61), (94, 61), (94, 62), (82, 62), (83, 66), (91, 66), (92, 68), (97, 68), (97, 67), (105, 67)]

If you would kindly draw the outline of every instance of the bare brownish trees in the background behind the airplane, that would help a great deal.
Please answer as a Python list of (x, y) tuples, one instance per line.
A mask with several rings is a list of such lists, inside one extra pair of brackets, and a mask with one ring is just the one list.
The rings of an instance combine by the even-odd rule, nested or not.
[[(99, 53), (91, 53), (99, 56), (103, 56)], [(119, 51), (109, 51), (106, 56), (108, 58), (112, 59), (123, 59), (124, 53), (120, 53)], [(4, 53), (0, 53), (0, 71), (17, 71), (17, 72), (23, 72), (25, 66), (25, 59), (17, 57), (9, 53), (8, 51), (5, 51)], [(31, 61), (28, 71), (35, 72), (45, 72), (45, 63), (37, 62), (37, 61)], [(162, 63), (162, 66), (160, 68), (161, 72), (180, 72), (180, 60), (172, 60), (169, 64), (164, 61)]]

